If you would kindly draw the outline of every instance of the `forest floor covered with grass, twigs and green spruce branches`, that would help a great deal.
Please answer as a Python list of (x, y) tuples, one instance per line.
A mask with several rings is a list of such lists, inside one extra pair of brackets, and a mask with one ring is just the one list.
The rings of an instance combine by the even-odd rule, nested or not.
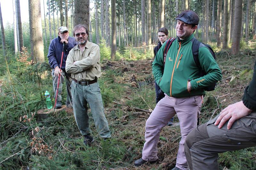
[[(241, 100), (243, 90), (251, 80), (255, 59), (255, 49), (243, 52), (241, 56), (230, 56), (228, 52), (224, 51), (217, 54), (217, 62), (223, 77), (216, 89), (207, 92), (204, 96), (200, 124), (215, 117), (229, 104)], [(4, 129), (0, 128), (2, 134), (0, 170), (28, 169), (28, 167), (56, 170), (172, 169), (176, 163), (176, 154), (181, 138), (177, 116), (174, 117), (174, 125), (165, 126), (161, 131), (157, 144), (158, 161), (154, 164), (146, 163), (140, 167), (133, 165), (134, 160), (141, 157), (145, 141), (145, 123), (156, 105), (152, 62), (152, 59), (102, 61), (102, 76), (99, 83), (112, 138), (104, 141), (99, 137), (89, 109), (92, 136), (96, 139), (91, 146), (83, 144), (83, 138), (72, 113), (62, 111), (49, 115), (45, 120), (36, 120), (37, 114), (34, 115), (34, 113), (37, 111), (34, 110), (41, 109), (42, 107), (36, 106), (44, 104), (44, 101), (39, 99), (36, 106), (32, 107), (33, 101), (30, 101), (29, 94), (36, 95), (33, 88), (29, 89), (23, 85), (22, 88), (25, 90), (21, 90), (20, 95), (22, 96), (24, 93), (24, 99), (17, 100), (17, 103), (19, 105), (32, 103), (26, 105), (26, 108), (22, 107), (20, 110), (23, 109), (23, 111), (16, 113), (16, 106), (12, 106), (12, 102), (3, 102), (7, 101), (8, 95), (11, 96), (14, 93), (11, 93), (12, 88), (8, 89), (9, 86), (12, 87), (10, 82), (2, 76), (0, 78), (0, 88), (2, 88), (0, 97), (3, 111), (0, 115), (0, 123), (3, 124)], [(50, 71), (48, 72), (50, 73)], [(44, 76), (41, 78), (43, 80)], [(48, 81), (41, 84), (40, 89), (52, 88), (50, 75), (46, 75), (46, 78)], [(33, 79), (33, 81), (35, 80)], [(6, 91), (10, 93), (7, 94)], [(24, 91), (28, 91), (28, 93)], [(28, 95), (28, 99), (26, 95)], [(40, 98), (40, 95), (37, 94), (35, 98)], [(13, 103), (14, 101), (13, 98)], [(64, 104), (64, 101), (62, 102)], [(11, 111), (13, 111), (13, 115), (17, 115), (8, 116)], [(5, 119), (12, 119), (12, 121), (8, 122)], [(255, 156), (255, 148), (220, 154), (220, 169), (253, 168), (256, 166)], [(249, 160), (244, 160), (241, 157)]]

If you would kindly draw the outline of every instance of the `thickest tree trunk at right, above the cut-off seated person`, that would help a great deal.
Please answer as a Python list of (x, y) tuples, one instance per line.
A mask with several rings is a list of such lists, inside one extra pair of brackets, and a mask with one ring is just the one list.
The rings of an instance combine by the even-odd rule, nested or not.
[(243, 12), (243, 0), (235, 0), (235, 18), (234, 18), (234, 32), (233, 32), (233, 44), (231, 48), (231, 54), (236, 55), (240, 49), (241, 38), (241, 24)]

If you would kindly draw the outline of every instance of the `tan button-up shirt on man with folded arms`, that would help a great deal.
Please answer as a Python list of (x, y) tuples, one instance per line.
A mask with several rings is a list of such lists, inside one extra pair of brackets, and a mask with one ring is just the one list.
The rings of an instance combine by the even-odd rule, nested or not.
[[(78, 61), (76, 65), (73, 63)], [(82, 52), (78, 45), (69, 51), (66, 60), (66, 72), (78, 81), (92, 81), (99, 78), (100, 70), (100, 47), (87, 41)]]

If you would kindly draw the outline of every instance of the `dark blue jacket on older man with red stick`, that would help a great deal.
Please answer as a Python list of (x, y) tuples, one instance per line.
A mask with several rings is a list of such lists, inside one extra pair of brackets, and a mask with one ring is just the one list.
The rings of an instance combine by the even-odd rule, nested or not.
[[(60, 36), (58, 36), (55, 39), (52, 39), (49, 46), (47, 57), (49, 60), (49, 64), (51, 65), (52, 68), (55, 68), (56, 66), (60, 67), (62, 47), (63, 47), (63, 44), (60, 42), (60, 40), (61, 40)], [(63, 54), (62, 65), (61, 65), (61, 70), (63, 70), (64, 72), (66, 72), (65, 66), (66, 66), (68, 53), (76, 45), (77, 45), (76, 39), (74, 37), (69, 37), (68, 44), (64, 46), (64, 54)]]

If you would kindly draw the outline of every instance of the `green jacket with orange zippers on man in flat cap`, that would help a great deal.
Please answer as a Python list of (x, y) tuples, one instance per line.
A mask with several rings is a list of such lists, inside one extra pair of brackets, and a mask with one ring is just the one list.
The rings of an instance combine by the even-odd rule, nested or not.
[[(217, 62), (209, 49), (203, 44), (199, 47), (198, 59), (201, 67), (207, 73), (199, 76), (199, 68), (192, 54), (192, 39), (194, 34), (186, 39), (177, 38), (168, 50), (164, 66), (164, 48), (166, 42), (159, 49), (152, 63), (152, 71), (160, 89), (171, 97), (186, 97), (204, 95), (204, 87), (213, 82), (220, 81), (222, 74)], [(164, 73), (163, 73), (164, 67)], [(188, 81), (191, 91), (188, 92)]]

